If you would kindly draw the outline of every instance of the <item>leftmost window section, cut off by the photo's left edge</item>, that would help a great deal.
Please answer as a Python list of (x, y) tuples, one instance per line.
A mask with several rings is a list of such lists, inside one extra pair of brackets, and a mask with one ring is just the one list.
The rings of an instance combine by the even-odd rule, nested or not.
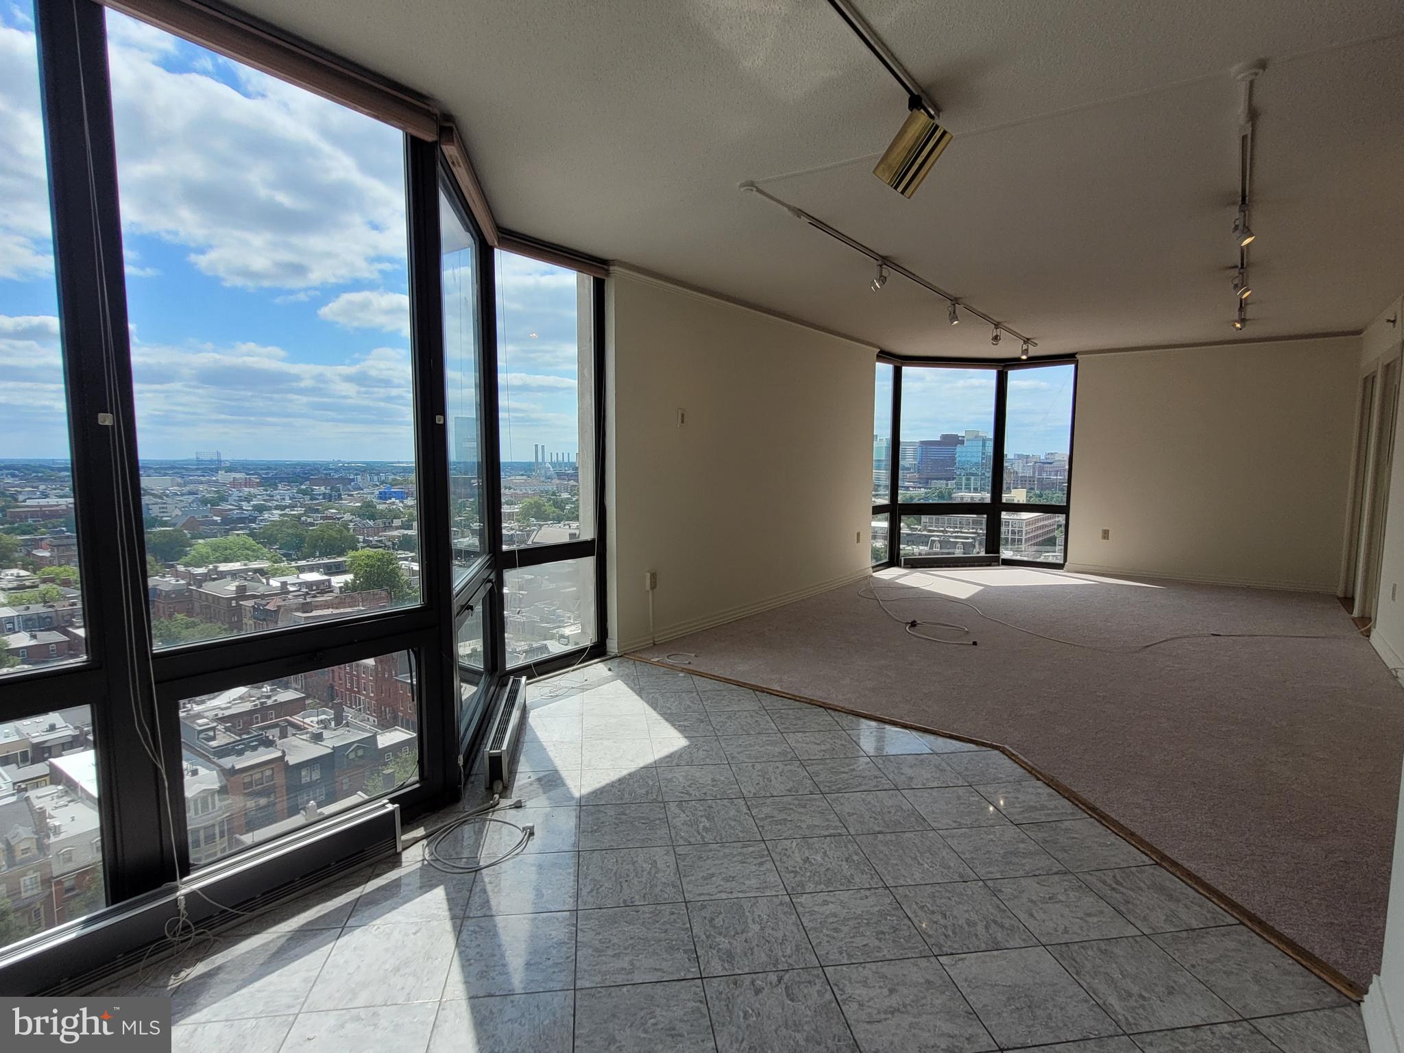
[(0, 6), (0, 139), (3, 951), (107, 901), (100, 767), (111, 754), (98, 753), (94, 706), (111, 699), (87, 639), (108, 626), (86, 604), (98, 553), (79, 528), (73, 484), (31, 3)]

